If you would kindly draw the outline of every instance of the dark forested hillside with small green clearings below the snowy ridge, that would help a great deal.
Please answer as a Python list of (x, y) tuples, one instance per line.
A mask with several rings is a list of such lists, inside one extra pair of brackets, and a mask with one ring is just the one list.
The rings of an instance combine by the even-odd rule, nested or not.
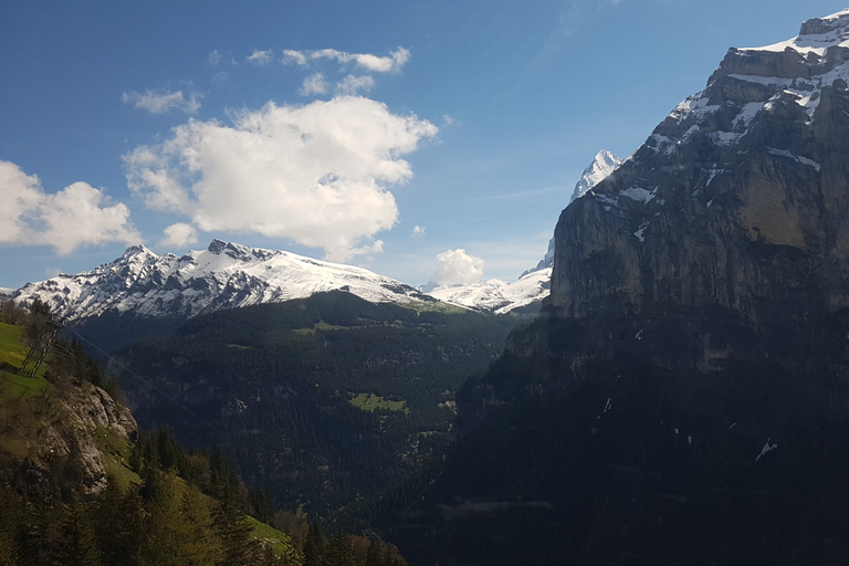
[(520, 321), (335, 292), (197, 317), (117, 358), (143, 426), (220, 443), (281, 507), (328, 513), (446, 444), (454, 390)]

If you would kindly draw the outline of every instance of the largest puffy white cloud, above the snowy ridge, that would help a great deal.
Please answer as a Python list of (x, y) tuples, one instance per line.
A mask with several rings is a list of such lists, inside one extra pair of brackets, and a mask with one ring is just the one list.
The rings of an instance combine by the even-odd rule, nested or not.
[(133, 192), (155, 210), (187, 214), (203, 231), (256, 232), (323, 248), (347, 261), (380, 251), (374, 235), (398, 217), (401, 159), (437, 127), (386, 105), (339, 96), (233, 117), (189, 120), (172, 137), (124, 156)]

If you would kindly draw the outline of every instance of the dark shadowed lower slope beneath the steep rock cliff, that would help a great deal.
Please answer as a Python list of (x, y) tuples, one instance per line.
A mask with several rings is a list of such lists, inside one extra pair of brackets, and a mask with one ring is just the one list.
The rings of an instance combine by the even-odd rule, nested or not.
[(841, 563), (849, 313), (653, 315), (539, 321), (465, 384), (463, 437), (395, 518), (413, 564)]

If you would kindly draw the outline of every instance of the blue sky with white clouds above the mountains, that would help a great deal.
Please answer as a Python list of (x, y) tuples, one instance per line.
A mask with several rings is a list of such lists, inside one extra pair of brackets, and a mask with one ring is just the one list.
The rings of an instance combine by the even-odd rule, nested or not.
[(515, 281), (600, 149), (836, 0), (0, 2), (0, 286), (213, 239)]

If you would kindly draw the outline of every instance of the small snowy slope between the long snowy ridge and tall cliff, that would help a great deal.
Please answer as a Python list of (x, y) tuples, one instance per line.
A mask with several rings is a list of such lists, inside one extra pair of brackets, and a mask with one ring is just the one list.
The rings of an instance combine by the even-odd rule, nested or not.
[(527, 273), (513, 283), (491, 279), (469, 285), (437, 286), (428, 294), (465, 308), (506, 314), (548, 296), (551, 280), (552, 270), (543, 269)]

